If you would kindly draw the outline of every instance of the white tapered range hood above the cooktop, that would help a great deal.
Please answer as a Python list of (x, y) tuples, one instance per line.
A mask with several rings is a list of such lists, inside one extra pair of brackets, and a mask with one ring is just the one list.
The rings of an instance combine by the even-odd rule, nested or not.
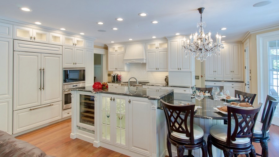
[(146, 63), (144, 44), (127, 45), (124, 63)]

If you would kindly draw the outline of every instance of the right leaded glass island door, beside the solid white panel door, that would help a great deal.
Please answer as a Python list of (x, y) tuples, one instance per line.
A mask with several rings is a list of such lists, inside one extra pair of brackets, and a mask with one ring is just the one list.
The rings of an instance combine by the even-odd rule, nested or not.
[(128, 96), (117, 96), (115, 97), (115, 114), (114, 114), (114, 122), (115, 129), (113, 129), (115, 135), (114, 137), (114, 145), (118, 145), (121, 147), (127, 148), (128, 141), (128, 132), (126, 131), (128, 120)]

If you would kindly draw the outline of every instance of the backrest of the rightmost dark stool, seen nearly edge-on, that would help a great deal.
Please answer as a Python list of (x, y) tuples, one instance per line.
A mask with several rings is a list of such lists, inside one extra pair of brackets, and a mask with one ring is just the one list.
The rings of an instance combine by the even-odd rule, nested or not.
[(261, 118), (261, 123), (263, 123), (263, 127), (262, 127), (263, 138), (266, 137), (266, 132), (271, 126), (271, 121), (277, 105), (278, 105), (278, 101), (275, 98), (269, 95), (266, 96), (265, 104), (263, 107), (263, 114)]

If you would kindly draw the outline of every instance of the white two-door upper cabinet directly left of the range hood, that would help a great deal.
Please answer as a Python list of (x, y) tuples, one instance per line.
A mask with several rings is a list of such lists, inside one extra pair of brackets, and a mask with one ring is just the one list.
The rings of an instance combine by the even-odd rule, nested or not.
[(124, 55), (125, 53), (108, 54), (108, 71), (125, 71)]

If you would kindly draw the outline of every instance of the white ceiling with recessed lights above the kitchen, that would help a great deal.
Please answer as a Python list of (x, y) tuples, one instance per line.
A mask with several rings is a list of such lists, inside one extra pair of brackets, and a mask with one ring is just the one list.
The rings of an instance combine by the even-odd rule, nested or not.
[[(279, 1), (263, 7), (253, 4), (263, 0), (2, 0), (0, 16), (28, 23), (39, 21), (42, 26), (66, 28), (67, 32), (85, 33), (97, 38), (95, 43), (126, 42), (163, 38), (175, 33), (198, 31), (199, 7), (205, 7), (202, 20), (205, 32), (225, 35), (223, 41), (241, 41), (250, 30), (279, 24)], [(21, 11), (28, 7), (31, 12)], [(139, 13), (148, 16), (138, 16)], [(123, 21), (115, 18), (122, 17)], [(152, 24), (157, 20), (159, 23)], [(104, 22), (98, 25), (96, 22)], [(118, 30), (112, 30), (112, 28)], [(220, 30), (226, 27), (227, 30)], [(98, 32), (97, 30), (106, 30)], [(214, 38), (213, 38), (214, 40)]]

